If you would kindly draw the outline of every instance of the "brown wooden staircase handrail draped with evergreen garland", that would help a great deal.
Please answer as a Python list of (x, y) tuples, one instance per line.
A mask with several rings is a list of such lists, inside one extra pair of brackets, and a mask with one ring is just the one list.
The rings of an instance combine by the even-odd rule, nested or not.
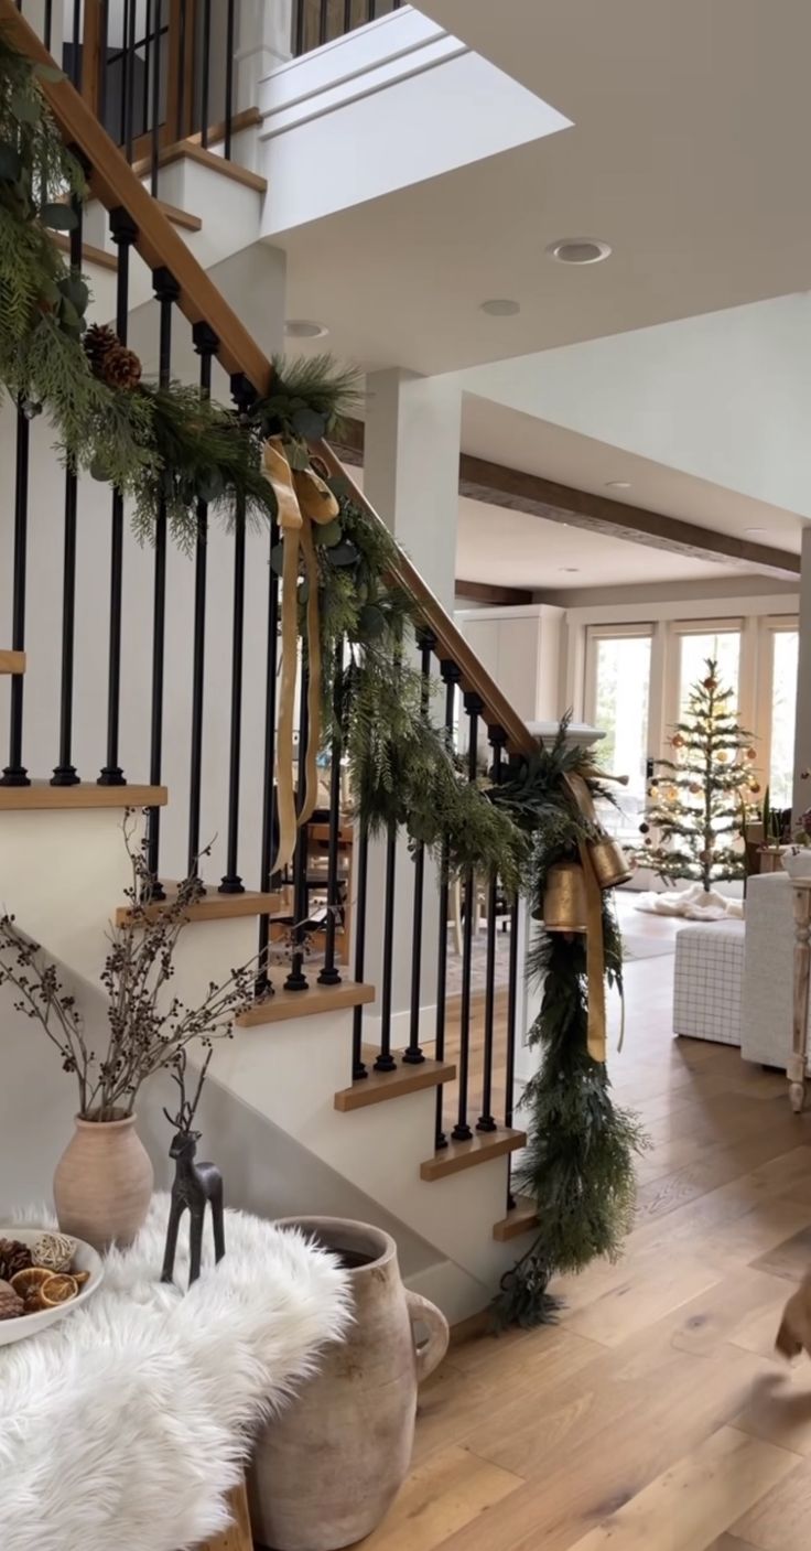
[[(34, 29), (17, 11), (14, 0), (0, 0), (0, 25), (11, 43), (28, 59), (43, 65), (54, 60)], [(152, 268), (164, 267), (180, 285), (178, 304), (189, 323), (208, 323), (219, 340), (219, 360), (228, 372), (240, 372), (259, 394), (267, 394), (273, 380), (273, 363), (256, 344), (245, 326), (231, 310), (206, 271), (177, 234), (158, 202), (143, 186), (129, 161), (113, 144), (107, 130), (79, 96), (70, 81), (40, 81), (42, 92), (70, 146), (82, 152), (90, 171), (91, 192), (107, 209), (124, 208), (138, 228), (135, 247)], [(347, 479), (352, 499), (368, 516), (383, 524), (368, 498), (349, 478), (332, 447), (319, 442), (315, 448), (333, 473)], [(439, 599), (399, 549), (395, 580), (411, 592), (419, 605), (426, 630), (436, 636), (437, 655), (456, 664), (462, 689), (479, 696), (484, 720), (499, 726), (507, 735), (507, 748), (513, 754), (529, 754), (535, 740), (526, 723), (513, 710), (498, 684), (490, 678), (476, 653), (445, 613)]]

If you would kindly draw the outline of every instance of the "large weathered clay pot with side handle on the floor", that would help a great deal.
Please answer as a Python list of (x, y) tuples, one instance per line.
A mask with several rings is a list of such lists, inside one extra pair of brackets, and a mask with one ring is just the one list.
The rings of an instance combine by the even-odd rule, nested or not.
[(403, 1287), (397, 1245), (380, 1228), (341, 1218), (287, 1218), (279, 1227), (299, 1227), (341, 1256), (355, 1323), (259, 1435), (248, 1475), (253, 1534), (274, 1551), (338, 1551), (372, 1532), (403, 1484), (417, 1385), (448, 1349), (448, 1321)]

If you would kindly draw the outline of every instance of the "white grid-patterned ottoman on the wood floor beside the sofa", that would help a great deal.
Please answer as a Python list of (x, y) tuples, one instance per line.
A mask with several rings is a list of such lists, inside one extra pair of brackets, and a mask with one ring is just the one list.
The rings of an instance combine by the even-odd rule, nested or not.
[(676, 932), (675, 1035), (740, 1045), (743, 949), (743, 921), (707, 921)]

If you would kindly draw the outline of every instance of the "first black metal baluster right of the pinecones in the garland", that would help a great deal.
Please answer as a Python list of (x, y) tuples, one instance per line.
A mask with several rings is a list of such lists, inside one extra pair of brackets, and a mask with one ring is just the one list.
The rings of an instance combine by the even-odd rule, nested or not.
[[(172, 375), (172, 307), (180, 296), (180, 285), (166, 268), (152, 275), (152, 285), (160, 307), (158, 383), (167, 388)], [(152, 605), (152, 712), (149, 740), (149, 783), (160, 786), (163, 772), (163, 673), (166, 659), (166, 549), (167, 549), (166, 503), (158, 503), (155, 521), (155, 583)], [(150, 808), (147, 820), (146, 859), (154, 900), (164, 900), (160, 881), (160, 827), (161, 810)]]

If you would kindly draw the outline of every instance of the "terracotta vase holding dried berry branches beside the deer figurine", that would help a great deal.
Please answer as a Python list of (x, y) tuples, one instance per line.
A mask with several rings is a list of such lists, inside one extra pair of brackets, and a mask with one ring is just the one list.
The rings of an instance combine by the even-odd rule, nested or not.
[(76, 1078), (76, 1131), (56, 1168), (54, 1204), (62, 1231), (95, 1249), (130, 1244), (147, 1213), (152, 1163), (135, 1131), (141, 1086), (155, 1072), (177, 1067), (186, 1047), (209, 1047), (212, 1039), (229, 1036), (253, 994), (251, 966), (231, 971), (222, 985), (211, 982), (197, 1007), (171, 993), (178, 937), (202, 886), (189, 876), (155, 909), (154, 881), (133, 834), (127, 814), (132, 884), (127, 914), (110, 927), (99, 976), (107, 996), (101, 1053), (91, 1047), (82, 1011), (65, 994), (56, 965), (12, 915), (0, 917), (0, 985), (14, 986), (17, 1011), (42, 1025), (64, 1070)]

